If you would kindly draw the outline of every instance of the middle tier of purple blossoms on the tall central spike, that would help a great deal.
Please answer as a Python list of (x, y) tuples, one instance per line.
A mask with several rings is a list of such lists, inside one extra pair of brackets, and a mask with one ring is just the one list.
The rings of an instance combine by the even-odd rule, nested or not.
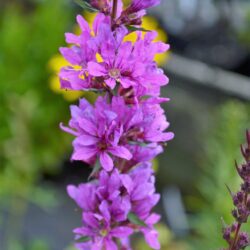
[(164, 132), (169, 127), (164, 111), (150, 102), (127, 106), (121, 97), (113, 97), (111, 104), (99, 97), (93, 107), (82, 99), (79, 107), (71, 106), (71, 116), (70, 128), (61, 128), (76, 136), (72, 160), (93, 164), (98, 157), (107, 171), (113, 169), (114, 157), (132, 159), (131, 143), (166, 142), (174, 136)]

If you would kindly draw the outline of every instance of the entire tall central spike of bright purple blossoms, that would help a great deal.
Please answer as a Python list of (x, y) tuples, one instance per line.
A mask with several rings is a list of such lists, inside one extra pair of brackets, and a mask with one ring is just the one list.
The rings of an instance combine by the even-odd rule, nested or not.
[[(75, 137), (71, 159), (93, 167), (88, 183), (67, 189), (82, 210), (82, 225), (74, 230), (81, 250), (131, 249), (136, 232), (160, 249), (154, 229), (160, 216), (152, 212), (160, 195), (151, 160), (174, 134), (160, 106), (169, 101), (160, 97), (168, 78), (154, 57), (169, 45), (138, 26), (145, 9), (159, 2), (132, 0), (123, 8), (120, 0), (93, 0), (99, 10), (93, 27), (78, 15), (81, 34), (66, 33), (70, 46), (60, 48), (69, 63), (59, 73), (61, 88), (100, 94), (94, 104), (81, 99), (72, 105), (68, 126), (60, 125)], [(126, 41), (132, 26), (134, 43)]]

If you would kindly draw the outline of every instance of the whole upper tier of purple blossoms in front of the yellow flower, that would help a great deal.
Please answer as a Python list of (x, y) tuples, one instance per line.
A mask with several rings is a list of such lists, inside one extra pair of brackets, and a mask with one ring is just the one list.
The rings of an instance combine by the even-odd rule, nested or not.
[(74, 45), (60, 48), (70, 63), (59, 74), (62, 88), (113, 91), (119, 83), (119, 91), (129, 90), (135, 99), (160, 94), (160, 87), (168, 83), (168, 78), (153, 59), (169, 46), (153, 41), (156, 32), (148, 32), (145, 37), (138, 32), (135, 43), (124, 42), (128, 30), (120, 26), (114, 32), (111, 18), (104, 14), (96, 16), (93, 31), (82, 16), (78, 15), (77, 21), (80, 36), (66, 33), (66, 41)]

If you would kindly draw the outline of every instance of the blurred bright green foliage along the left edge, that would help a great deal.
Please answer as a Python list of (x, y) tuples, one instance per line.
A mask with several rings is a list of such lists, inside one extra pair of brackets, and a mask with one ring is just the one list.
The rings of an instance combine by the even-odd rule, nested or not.
[(36, 184), (42, 173), (57, 171), (69, 145), (58, 129), (66, 104), (48, 88), (46, 71), (69, 24), (66, 7), (64, 1), (45, 0), (32, 11), (14, 4), (1, 10), (0, 209), (8, 211), (1, 249), (18, 249), (28, 201), (53, 203), (51, 192)]

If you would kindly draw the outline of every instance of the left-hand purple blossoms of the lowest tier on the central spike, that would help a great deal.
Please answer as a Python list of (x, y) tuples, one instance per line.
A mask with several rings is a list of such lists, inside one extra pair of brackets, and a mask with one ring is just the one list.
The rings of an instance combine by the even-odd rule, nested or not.
[[(110, 176), (102, 171), (99, 183), (81, 184), (79, 187), (68, 186), (69, 196), (83, 210), (83, 226), (76, 228), (74, 233), (76, 234), (76, 240), (81, 237), (87, 238), (85, 239), (86, 242), (76, 244), (78, 249), (102, 249), (104, 247), (105, 249), (115, 250), (117, 249), (115, 238), (122, 238), (128, 245), (127, 238), (133, 233), (133, 229), (122, 224), (114, 224), (125, 221), (127, 218), (123, 216), (121, 220), (120, 216), (120, 220), (118, 220), (117, 217), (124, 210), (124, 203), (115, 203), (119, 195), (116, 188), (119, 187), (121, 187), (121, 183), (117, 171), (114, 171)], [(115, 191), (116, 194), (114, 194)]]

